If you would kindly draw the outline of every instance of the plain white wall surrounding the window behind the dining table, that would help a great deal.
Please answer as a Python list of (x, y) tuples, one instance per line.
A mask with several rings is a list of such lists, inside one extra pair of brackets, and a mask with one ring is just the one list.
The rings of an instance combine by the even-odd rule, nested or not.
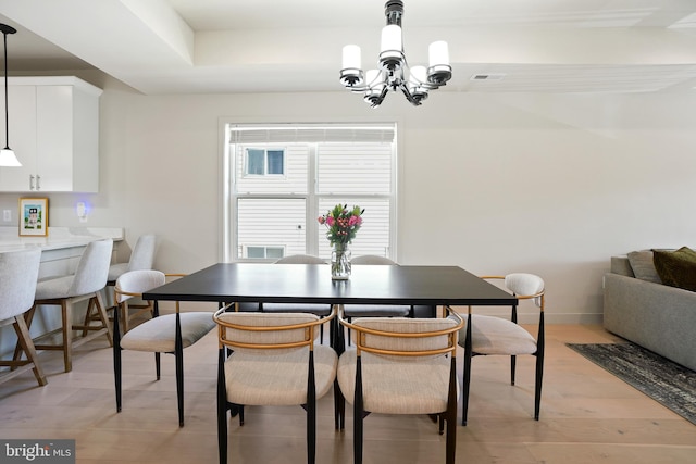
[[(539, 274), (550, 323), (600, 321), (611, 254), (696, 246), (694, 95), (440, 90), (421, 108), (391, 93), (371, 110), (344, 91), (141, 96), (104, 87), (101, 191), (87, 198), (88, 225), (123, 226), (132, 244), (160, 235), (163, 271), (219, 260), (221, 118), (397, 121), (399, 261)], [(52, 225), (80, 225), (78, 197), (50, 196)], [(0, 195), (0, 208), (15, 202)]]

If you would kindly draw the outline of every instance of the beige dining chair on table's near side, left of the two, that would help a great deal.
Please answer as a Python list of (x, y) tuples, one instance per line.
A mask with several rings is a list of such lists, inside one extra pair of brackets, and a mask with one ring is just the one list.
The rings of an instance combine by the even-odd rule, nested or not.
[[(333, 318), (335, 313), (327, 317)], [(316, 399), (336, 378), (337, 355), (315, 343), (322, 319), (309, 313), (215, 313), (219, 325), (217, 441), (227, 462), (227, 411), (244, 405), (301, 405), (307, 462), (315, 462)], [(227, 350), (232, 350), (225, 359)], [(335, 392), (336, 394), (336, 392)], [(244, 423), (243, 423), (244, 424)]]

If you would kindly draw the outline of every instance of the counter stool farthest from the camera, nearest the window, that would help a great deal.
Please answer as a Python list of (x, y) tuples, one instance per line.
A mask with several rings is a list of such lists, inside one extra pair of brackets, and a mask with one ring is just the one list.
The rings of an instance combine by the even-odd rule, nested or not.
[[(110, 289), (116, 285), (116, 279), (124, 273), (129, 271), (151, 269), (154, 264), (154, 253), (157, 251), (157, 236), (153, 234), (141, 235), (135, 242), (130, 259), (125, 263), (115, 263), (109, 267), (109, 276), (107, 278), (107, 298), (111, 297)], [(115, 309), (116, 302), (109, 310)], [(130, 319), (140, 314), (149, 313), (152, 306), (148, 302), (130, 303), (128, 306), (121, 308), (121, 325), (124, 334), (128, 331)], [(136, 310), (136, 311), (130, 311)]]

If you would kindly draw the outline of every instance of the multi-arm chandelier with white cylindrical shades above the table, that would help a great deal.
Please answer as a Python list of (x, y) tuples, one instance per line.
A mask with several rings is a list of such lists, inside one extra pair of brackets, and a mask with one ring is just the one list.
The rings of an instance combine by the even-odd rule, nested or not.
[(435, 41), (428, 48), (428, 66), (409, 66), (403, 54), (401, 16), (403, 2), (388, 0), (384, 5), (387, 25), (382, 29), (380, 67), (363, 73), (360, 47), (348, 45), (343, 50), (340, 83), (353, 92), (362, 92), (365, 102), (376, 108), (389, 90), (400, 89), (408, 101), (419, 105), (430, 90), (447, 84), (452, 77), (447, 42)]

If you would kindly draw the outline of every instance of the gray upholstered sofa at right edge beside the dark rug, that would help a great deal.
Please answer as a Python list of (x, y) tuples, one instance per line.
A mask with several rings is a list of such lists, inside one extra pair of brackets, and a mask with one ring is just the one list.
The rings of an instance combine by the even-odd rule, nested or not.
[(627, 256), (611, 256), (605, 328), (696, 371), (696, 292), (662, 285), (659, 277), (655, 281), (649, 265), (642, 264), (636, 272), (643, 278), (636, 278)]

